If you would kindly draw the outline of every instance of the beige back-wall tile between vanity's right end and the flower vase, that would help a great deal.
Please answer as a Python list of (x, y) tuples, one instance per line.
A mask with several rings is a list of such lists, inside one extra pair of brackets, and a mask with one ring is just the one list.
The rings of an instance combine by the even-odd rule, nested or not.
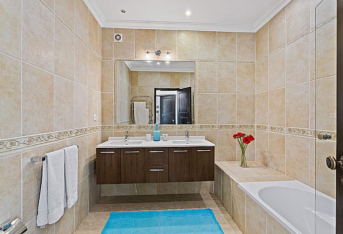
[(217, 162), (236, 161), (236, 140), (232, 137), (234, 131), (218, 131)]

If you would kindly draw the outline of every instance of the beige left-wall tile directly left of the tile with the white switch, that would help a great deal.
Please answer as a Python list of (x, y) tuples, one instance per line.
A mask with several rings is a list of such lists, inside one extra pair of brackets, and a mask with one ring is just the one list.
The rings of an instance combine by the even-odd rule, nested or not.
[(74, 127), (87, 127), (88, 126), (88, 91), (85, 86), (74, 84)]

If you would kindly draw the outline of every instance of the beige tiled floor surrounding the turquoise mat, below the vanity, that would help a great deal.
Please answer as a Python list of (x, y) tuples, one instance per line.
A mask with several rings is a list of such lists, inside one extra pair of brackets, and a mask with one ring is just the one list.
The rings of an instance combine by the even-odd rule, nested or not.
[(225, 234), (242, 234), (214, 193), (101, 197), (75, 234), (101, 234), (111, 211), (210, 208)]

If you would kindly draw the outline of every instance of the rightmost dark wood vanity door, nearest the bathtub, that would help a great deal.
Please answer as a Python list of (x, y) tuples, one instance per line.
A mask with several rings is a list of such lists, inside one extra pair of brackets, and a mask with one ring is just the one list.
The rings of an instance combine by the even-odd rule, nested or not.
[(192, 181), (214, 180), (214, 147), (192, 148)]

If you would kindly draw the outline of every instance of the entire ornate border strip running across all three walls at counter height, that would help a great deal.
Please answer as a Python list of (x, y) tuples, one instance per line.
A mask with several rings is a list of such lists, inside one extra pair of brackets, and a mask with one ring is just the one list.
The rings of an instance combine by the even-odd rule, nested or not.
[[(51, 132), (15, 138), (0, 139), (0, 156), (22, 152), (44, 144), (52, 144), (61, 140), (72, 139), (99, 131), (153, 131), (151, 125), (99, 125), (67, 131)], [(294, 134), (299, 136), (316, 137), (320, 133), (329, 133), (332, 140), (336, 141), (337, 133), (315, 129), (269, 126), (259, 124), (192, 124), (192, 125), (160, 125), (161, 130), (170, 131), (215, 131), (215, 130), (261, 130), (275, 133)]]

